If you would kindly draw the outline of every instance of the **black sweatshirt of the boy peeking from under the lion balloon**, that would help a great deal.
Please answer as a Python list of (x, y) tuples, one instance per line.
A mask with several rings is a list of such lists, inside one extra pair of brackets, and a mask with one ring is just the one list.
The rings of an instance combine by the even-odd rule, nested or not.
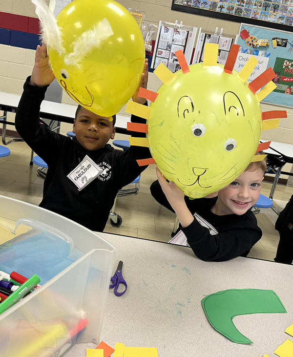
[[(158, 181), (152, 183), (150, 191), (156, 201), (174, 212)], [(210, 211), (216, 201), (217, 197), (189, 200), (185, 196), (190, 212), (198, 213), (218, 231), (218, 234), (211, 235), (209, 229), (202, 227), (196, 219), (188, 227), (180, 226), (178, 231), (181, 229), (184, 232), (194, 254), (202, 260), (220, 262), (236, 256), (247, 256), (262, 236), (254, 214), (248, 210), (242, 215), (218, 216)]]

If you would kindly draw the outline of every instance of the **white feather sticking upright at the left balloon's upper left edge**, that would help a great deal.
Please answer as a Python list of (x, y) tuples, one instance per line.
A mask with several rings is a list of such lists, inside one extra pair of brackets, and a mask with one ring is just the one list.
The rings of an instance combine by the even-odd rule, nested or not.
[(56, 18), (44, 0), (31, 0), (36, 5), (36, 14), (41, 22), (41, 39), (47, 46), (63, 52), (63, 40)]

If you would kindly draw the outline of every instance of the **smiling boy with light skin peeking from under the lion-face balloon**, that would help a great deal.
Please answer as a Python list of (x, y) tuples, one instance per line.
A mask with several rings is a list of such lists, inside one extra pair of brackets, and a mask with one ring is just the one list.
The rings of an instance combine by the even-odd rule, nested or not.
[(157, 168), (158, 181), (152, 183), (151, 194), (175, 212), (180, 222), (169, 243), (190, 246), (197, 257), (206, 261), (247, 256), (262, 236), (250, 209), (259, 198), (266, 167), (265, 160), (251, 163), (229, 186), (217, 192), (217, 197), (194, 200), (184, 196), (173, 182), (167, 183)]

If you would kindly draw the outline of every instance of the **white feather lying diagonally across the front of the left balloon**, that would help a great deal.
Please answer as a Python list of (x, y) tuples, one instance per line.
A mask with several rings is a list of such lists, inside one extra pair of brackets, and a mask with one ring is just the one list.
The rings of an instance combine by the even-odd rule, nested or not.
[(103, 19), (99, 25), (94, 26), (92, 30), (82, 33), (73, 44), (73, 52), (65, 58), (65, 63), (76, 64), (80, 66), (84, 57), (93, 49), (99, 48), (105, 40), (112, 36), (113, 30), (107, 19)]

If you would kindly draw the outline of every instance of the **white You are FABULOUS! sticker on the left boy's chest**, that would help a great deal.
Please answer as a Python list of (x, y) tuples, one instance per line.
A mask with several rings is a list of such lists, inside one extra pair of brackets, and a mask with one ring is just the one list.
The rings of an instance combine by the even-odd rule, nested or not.
[(68, 173), (67, 177), (77, 186), (78, 190), (81, 191), (85, 186), (101, 175), (102, 172), (103, 168), (100, 168), (100, 166), (86, 155), (84, 160)]

